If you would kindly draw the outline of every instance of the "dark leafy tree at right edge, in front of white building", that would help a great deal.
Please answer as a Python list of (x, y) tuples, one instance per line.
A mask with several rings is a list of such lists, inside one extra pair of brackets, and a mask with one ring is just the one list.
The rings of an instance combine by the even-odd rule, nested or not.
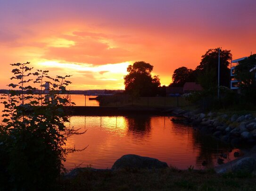
[(235, 77), (240, 81), (239, 87), (242, 93), (252, 100), (256, 96), (256, 79), (255, 72), (250, 72), (250, 69), (254, 67), (256, 67), (256, 54), (239, 61), (239, 65), (235, 68)]

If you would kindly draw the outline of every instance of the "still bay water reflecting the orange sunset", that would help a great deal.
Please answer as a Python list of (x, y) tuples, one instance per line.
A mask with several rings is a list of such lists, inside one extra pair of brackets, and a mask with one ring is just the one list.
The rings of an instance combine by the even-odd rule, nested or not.
[[(71, 95), (76, 106), (99, 106), (95, 96)], [(2, 105), (2, 104), (1, 104)], [(1, 106), (1, 110), (2, 110)], [(71, 116), (66, 125), (86, 130), (82, 135), (68, 138), (66, 146), (82, 149), (66, 156), (67, 169), (91, 166), (111, 168), (124, 154), (138, 154), (165, 161), (179, 169), (202, 169), (217, 165), (221, 153), (227, 154), (225, 162), (233, 160), (239, 151), (212, 137), (201, 135), (192, 127), (171, 121), (170, 116)], [(191, 165), (191, 166), (190, 166)]]

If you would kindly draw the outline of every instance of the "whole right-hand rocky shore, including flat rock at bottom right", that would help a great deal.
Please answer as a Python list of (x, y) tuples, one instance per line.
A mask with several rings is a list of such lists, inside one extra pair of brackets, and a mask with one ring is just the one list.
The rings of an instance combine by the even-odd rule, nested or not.
[(252, 114), (200, 113), (174, 109), (172, 112), (181, 119), (172, 121), (193, 125), (204, 134), (210, 134), (234, 147), (247, 148), (248, 152), (236, 160), (215, 167), (216, 173), (242, 172), (256, 174), (256, 118)]

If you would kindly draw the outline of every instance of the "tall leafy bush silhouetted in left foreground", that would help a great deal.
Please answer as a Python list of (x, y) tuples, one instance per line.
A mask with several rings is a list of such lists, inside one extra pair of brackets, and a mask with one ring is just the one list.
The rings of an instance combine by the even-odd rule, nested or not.
[[(49, 71), (32, 72), (29, 62), (11, 64), (16, 83), (1, 97), (4, 104), (0, 125), (0, 185), (3, 190), (55, 190), (62, 161), (74, 148), (65, 148), (66, 139), (80, 134), (69, 122), (65, 106), (69, 100), (61, 94), (71, 82), (70, 76), (48, 76)], [(49, 82), (50, 93), (44, 95)], [(33, 87), (39, 84), (39, 89)], [(39, 92), (35, 95), (34, 92)]]

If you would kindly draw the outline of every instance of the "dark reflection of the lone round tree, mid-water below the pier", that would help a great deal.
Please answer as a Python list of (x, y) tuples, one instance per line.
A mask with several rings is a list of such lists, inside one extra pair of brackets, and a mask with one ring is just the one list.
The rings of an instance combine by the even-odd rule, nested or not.
[(149, 136), (151, 131), (151, 116), (149, 115), (131, 115), (125, 117), (127, 124), (127, 134), (135, 137)]

